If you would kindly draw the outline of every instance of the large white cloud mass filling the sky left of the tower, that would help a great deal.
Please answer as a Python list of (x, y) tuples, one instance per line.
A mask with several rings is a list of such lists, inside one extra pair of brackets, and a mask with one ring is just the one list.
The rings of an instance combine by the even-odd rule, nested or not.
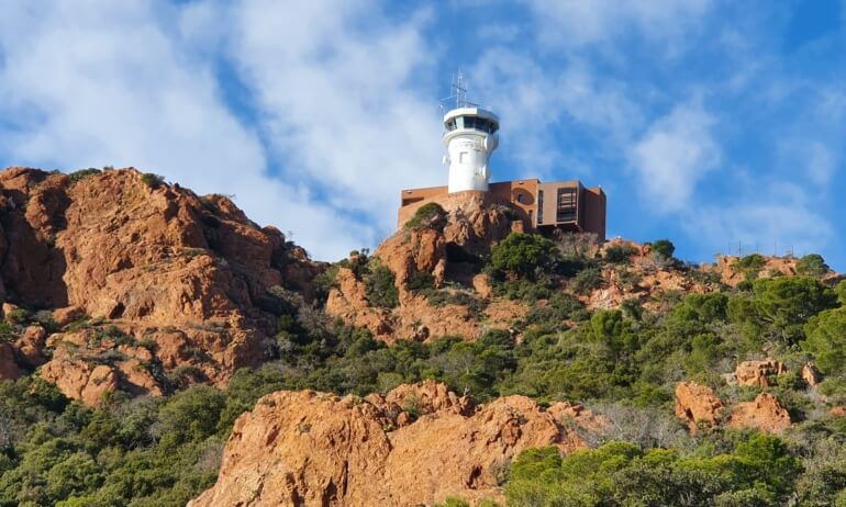
[[(253, 219), (293, 230), (319, 258), (372, 245), (393, 226), (402, 184), (427, 170), (437, 182), (443, 170), (434, 104), (402, 91), (425, 64), (414, 56), (425, 53), (420, 22), (366, 42), (349, 25), (371, 2), (253, 2), (237, 26), (225, 5), (5, 3), (0, 157), (131, 165), (201, 193), (234, 193)], [(242, 124), (219, 89), (214, 59), (233, 40), (244, 43), (236, 56), (266, 123)], [(263, 134), (280, 170), (269, 170)]]

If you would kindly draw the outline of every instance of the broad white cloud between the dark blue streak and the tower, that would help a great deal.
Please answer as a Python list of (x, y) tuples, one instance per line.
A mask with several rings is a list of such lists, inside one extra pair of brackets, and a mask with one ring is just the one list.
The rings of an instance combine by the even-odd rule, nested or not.
[(288, 176), (382, 233), (400, 189), (444, 181), (437, 103), (421, 91), (433, 65), (425, 16), (397, 23), (367, 0), (255, 0), (230, 21), (231, 56)]

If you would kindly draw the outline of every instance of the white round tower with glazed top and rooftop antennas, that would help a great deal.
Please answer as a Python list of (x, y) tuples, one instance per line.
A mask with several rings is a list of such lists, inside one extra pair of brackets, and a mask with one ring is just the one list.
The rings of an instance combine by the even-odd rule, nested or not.
[(448, 192), (487, 192), (490, 181), (488, 161), (499, 146), (499, 116), (465, 100), (460, 72), (453, 88), (455, 109), (444, 115), (444, 146), (447, 150), (444, 164), (449, 164)]

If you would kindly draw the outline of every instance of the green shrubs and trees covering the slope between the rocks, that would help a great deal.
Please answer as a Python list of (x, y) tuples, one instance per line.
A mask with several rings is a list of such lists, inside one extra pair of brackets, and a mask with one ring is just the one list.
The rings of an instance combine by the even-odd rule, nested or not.
[[(420, 224), (441, 221), (435, 209), (419, 213)], [(653, 252), (678, 263), (674, 251), (669, 241), (653, 244)], [(356, 254), (343, 266), (365, 282), (370, 303), (396, 306), (393, 273), (366, 251)], [(820, 401), (823, 394), (831, 404), (846, 403), (846, 282), (823, 283), (825, 263), (810, 256), (801, 275), (760, 278), (762, 258), (749, 256), (736, 267), (748, 281), (738, 289), (589, 312), (578, 295), (604, 283), (603, 270), (625, 281), (634, 255), (621, 246), (598, 258), (536, 235), (509, 236), (483, 269), (496, 294), (527, 302), (531, 311), (511, 331), (490, 329), (472, 342), (447, 336), (386, 346), (329, 318), (320, 300), (308, 304), (275, 288), (282, 309), (268, 343), (271, 360), (240, 370), (226, 390), (118, 394), (91, 409), (34, 376), (0, 382), (0, 506), (181, 506), (214, 482), (235, 418), (261, 395), (283, 388), (366, 395), (424, 379), (479, 402), (508, 394), (581, 402), (614, 422), (594, 436), (594, 449), (564, 458), (536, 449), (516, 458), (503, 474), (509, 505), (846, 505), (846, 421), (825, 416)], [(321, 275), (319, 298), (334, 283), (333, 270)], [(447, 297), (432, 289), (431, 277), (408, 285), (432, 304)], [(454, 304), (478, 303), (449, 294)], [(712, 386), (727, 403), (750, 399), (756, 388), (726, 385), (722, 374), (765, 354), (791, 372), (812, 361), (824, 375), (819, 391), (795, 374), (769, 388), (798, 422), (790, 431), (691, 437), (671, 415), (672, 390), (682, 380)]]

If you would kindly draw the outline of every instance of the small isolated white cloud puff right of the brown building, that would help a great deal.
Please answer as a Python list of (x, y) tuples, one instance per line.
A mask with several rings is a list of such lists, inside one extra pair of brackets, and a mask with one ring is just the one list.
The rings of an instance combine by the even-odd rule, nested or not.
[(716, 168), (721, 154), (711, 133), (713, 124), (698, 108), (677, 106), (633, 145), (628, 162), (652, 209), (665, 213), (684, 209), (697, 182)]

